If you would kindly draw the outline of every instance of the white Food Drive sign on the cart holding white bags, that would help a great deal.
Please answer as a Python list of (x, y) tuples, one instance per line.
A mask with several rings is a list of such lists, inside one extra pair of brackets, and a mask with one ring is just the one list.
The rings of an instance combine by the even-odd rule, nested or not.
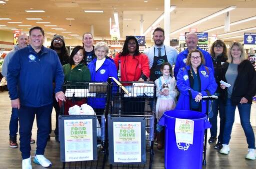
[(64, 120), (65, 162), (93, 160), (92, 119)]

